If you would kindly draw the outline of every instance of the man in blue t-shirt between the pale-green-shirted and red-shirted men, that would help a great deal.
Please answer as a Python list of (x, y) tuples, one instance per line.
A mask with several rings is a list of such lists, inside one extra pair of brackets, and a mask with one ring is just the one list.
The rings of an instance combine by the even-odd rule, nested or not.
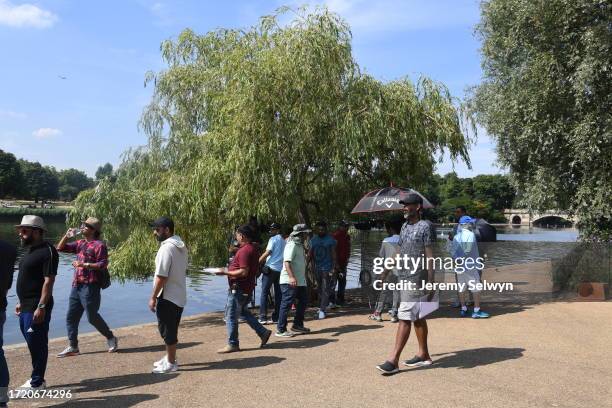
[(336, 240), (327, 233), (326, 222), (319, 221), (315, 224), (315, 227), (317, 235), (310, 240), (308, 257), (312, 262), (317, 278), (319, 319), (325, 319), (332, 290), (331, 282), (336, 269)]

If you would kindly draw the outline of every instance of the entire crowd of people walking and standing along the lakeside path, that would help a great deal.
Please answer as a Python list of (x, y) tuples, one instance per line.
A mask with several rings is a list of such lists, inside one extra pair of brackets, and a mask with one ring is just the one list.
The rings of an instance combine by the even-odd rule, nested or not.
[[(433, 257), (436, 240), (433, 225), (421, 219), (422, 197), (410, 194), (400, 203), (404, 206), (404, 219), (388, 221), (388, 232), (381, 244), (379, 256), (393, 258), (396, 254), (408, 257)], [(472, 219), (458, 208), (458, 227), (449, 235), (454, 257), (478, 256), (474, 233), (471, 231)], [(153, 289), (149, 299), (149, 309), (157, 316), (158, 328), (165, 343), (166, 353), (153, 363), (153, 373), (170, 373), (178, 370), (176, 348), (178, 329), (183, 309), (187, 301), (186, 276), (188, 249), (180, 236), (175, 233), (172, 219), (160, 217), (150, 223), (154, 237), (159, 242), (155, 257)], [(108, 249), (101, 239), (102, 223), (90, 217), (79, 229), (69, 229), (60, 241), (53, 245), (45, 240), (44, 220), (41, 217), (26, 215), (16, 226), (25, 252), (19, 260), (17, 277), (17, 296), (19, 303), (15, 313), (32, 358), (32, 374), (21, 389), (44, 389), (45, 370), (48, 359), (48, 332), (53, 311), (53, 284), (59, 264), (58, 251), (75, 254), (72, 263), (74, 276), (68, 300), (66, 332), (68, 346), (58, 358), (76, 356), (80, 353), (78, 328), (83, 313), (107, 341), (108, 352), (119, 349), (119, 342), (113, 331), (99, 314), (101, 291), (110, 285), (108, 274)], [(227, 344), (219, 353), (240, 351), (238, 327), (245, 322), (255, 331), (264, 347), (273, 331), (266, 326), (275, 325), (274, 335), (290, 338), (297, 334), (310, 332), (304, 325), (308, 304), (307, 270), (313, 271), (316, 278), (318, 311), (316, 317), (325, 319), (329, 309), (342, 306), (346, 302), (346, 275), (351, 251), (348, 234), (349, 224), (340, 222), (338, 228), (330, 233), (327, 223), (320, 221), (314, 231), (306, 224), (296, 224), (290, 231), (278, 223), (269, 226), (269, 239), (263, 246), (261, 228), (257, 219), (238, 226), (229, 246), (227, 267), (218, 268), (217, 275), (227, 276), (228, 294), (224, 320), (227, 328)], [(77, 235), (81, 239), (74, 240)], [(16, 249), (0, 241), (0, 345), (2, 328), (6, 320), (6, 293), (13, 281), (13, 270), (17, 259)], [(481, 270), (470, 269), (457, 274), (458, 281), (480, 282)], [(256, 282), (261, 275), (261, 296), (258, 317), (253, 316), (249, 303), (255, 294)], [(420, 269), (405, 274), (397, 268), (389, 268), (379, 279), (386, 282), (408, 280), (418, 283), (433, 282), (433, 267), (425, 264)], [(273, 292), (271, 296), (270, 292)], [(473, 291), (474, 318), (488, 317), (480, 310), (480, 298)], [(382, 321), (386, 301), (391, 298), (391, 321), (399, 323), (395, 345), (387, 360), (377, 368), (384, 374), (399, 370), (399, 358), (410, 335), (411, 327), (418, 340), (418, 352), (407, 366), (426, 366), (432, 364), (427, 347), (428, 327), (423, 310), (423, 298), (435, 301), (433, 291), (414, 290), (381, 291), (375, 310), (370, 319)], [(468, 316), (465, 293), (459, 293), (461, 316)], [(268, 308), (273, 300), (271, 319)], [(292, 325), (288, 327), (289, 314), (294, 310)], [(1, 349), (0, 349), (1, 350)], [(0, 351), (0, 389), (7, 390), (9, 372)], [(6, 392), (0, 395), (0, 406), (6, 404)]]

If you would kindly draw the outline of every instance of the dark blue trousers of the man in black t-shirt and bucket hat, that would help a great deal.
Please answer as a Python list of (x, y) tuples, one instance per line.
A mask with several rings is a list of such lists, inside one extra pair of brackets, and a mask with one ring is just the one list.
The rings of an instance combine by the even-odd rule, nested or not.
[(22, 311), (19, 314), (19, 328), (28, 344), (30, 356), (32, 357), (32, 377), (30, 379), (30, 385), (38, 387), (45, 381), (45, 371), (47, 370), (51, 309), (47, 309), (45, 320), (42, 323), (33, 324), (33, 320), (34, 312)]

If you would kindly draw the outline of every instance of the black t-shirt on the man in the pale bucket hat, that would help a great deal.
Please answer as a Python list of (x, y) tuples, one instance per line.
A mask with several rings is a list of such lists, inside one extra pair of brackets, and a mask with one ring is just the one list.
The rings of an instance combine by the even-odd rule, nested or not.
[[(53, 245), (42, 242), (28, 248), (19, 262), (17, 296), (24, 312), (33, 312), (38, 307), (45, 276), (57, 275), (59, 255)], [(53, 307), (53, 296), (47, 308)]]

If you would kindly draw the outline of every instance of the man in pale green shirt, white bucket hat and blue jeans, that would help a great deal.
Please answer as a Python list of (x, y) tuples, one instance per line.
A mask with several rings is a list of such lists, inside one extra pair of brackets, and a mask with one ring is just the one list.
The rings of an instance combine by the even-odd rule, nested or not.
[[(283, 251), (283, 269), (280, 276), (280, 287), (283, 294), (279, 310), (277, 337), (293, 337), (295, 333), (309, 333), (304, 327), (304, 313), (308, 303), (306, 290), (306, 256), (304, 243), (310, 230), (306, 224), (293, 226), (287, 245)], [(291, 330), (287, 330), (287, 316), (291, 305), (296, 302), (295, 318)]]

